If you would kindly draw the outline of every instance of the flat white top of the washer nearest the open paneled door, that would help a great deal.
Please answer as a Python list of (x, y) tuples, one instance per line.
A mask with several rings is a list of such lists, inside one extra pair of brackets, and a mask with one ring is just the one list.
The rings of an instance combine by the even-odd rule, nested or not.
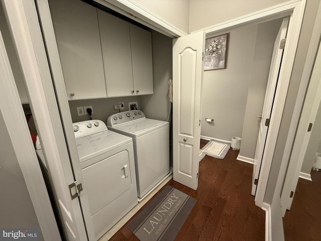
[(114, 128), (108, 128), (115, 130), (116, 132), (119, 132), (121, 134), (136, 138), (168, 125), (168, 122), (158, 121), (157, 119), (144, 118), (134, 122), (119, 125)]

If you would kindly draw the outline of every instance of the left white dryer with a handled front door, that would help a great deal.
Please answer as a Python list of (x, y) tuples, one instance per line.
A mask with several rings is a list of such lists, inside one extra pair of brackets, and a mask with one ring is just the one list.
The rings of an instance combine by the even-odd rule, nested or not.
[(133, 143), (99, 120), (73, 123), (96, 238), (137, 202)]

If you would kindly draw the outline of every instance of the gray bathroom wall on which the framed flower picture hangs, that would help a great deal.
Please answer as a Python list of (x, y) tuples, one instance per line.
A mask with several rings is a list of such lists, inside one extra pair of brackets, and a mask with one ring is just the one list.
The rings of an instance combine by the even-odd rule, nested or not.
[(226, 141), (242, 136), (256, 31), (257, 25), (231, 29), (226, 69), (204, 71), (201, 136)]

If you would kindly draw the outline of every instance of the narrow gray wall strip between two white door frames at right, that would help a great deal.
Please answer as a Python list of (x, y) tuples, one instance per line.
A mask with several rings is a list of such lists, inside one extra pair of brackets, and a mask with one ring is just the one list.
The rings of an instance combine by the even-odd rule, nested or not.
[[(281, 120), (281, 126), (277, 137), (276, 147), (271, 164), (270, 174), (264, 196), (264, 202), (271, 203), (273, 198), (276, 181), (280, 170), (281, 160), (289, 131), (289, 126), (292, 118), (296, 95), (300, 84), (302, 70), (304, 67), (305, 57), (310, 41), (312, 28), (316, 16), (316, 11), (319, 5), (319, 0), (307, 1), (304, 11), (303, 23), (300, 32), (299, 42), (296, 50), (296, 55), (293, 64), (289, 89), (286, 95), (284, 111)], [(316, 53), (316, 50), (315, 50)]]

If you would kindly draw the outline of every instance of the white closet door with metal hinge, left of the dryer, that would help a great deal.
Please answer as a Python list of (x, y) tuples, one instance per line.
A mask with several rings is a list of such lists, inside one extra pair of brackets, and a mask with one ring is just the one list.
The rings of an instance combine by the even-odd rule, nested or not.
[[(34, 1), (3, 0), (37, 132), (41, 137), (49, 179), (68, 240), (87, 240), (79, 199), (71, 199), (74, 182), (50, 69)], [(79, 164), (80, 165), (80, 164)], [(45, 214), (44, 214), (45, 215)]]

